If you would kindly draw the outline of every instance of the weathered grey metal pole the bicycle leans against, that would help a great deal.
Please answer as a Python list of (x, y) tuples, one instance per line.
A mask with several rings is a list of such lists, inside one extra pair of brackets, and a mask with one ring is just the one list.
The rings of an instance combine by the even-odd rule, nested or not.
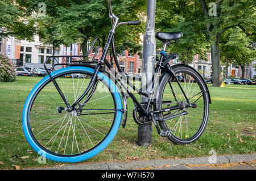
[[(143, 40), (143, 58), (142, 58), (142, 91), (149, 94), (152, 90), (151, 80), (155, 72), (155, 6), (156, 0), (147, 1), (147, 24)], [(146, 87), (146, 85), (148, 86)], [(147, 102), (145, 96), (141, 96), (141, 102)], [(150, 146), (152, 140), (152, 123), (138, 127), (139, 146)]]

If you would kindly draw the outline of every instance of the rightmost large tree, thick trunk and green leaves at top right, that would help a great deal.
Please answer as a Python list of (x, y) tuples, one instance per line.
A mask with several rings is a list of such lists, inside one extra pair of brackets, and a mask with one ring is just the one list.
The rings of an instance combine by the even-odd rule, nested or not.
[[(213, 86), (220, 86), (220, 37), (232, 27), (240, 27), (245, 33), (255, 30), (255, 1), (216, 0), (209, 4), (210, 1), (200, 0), (200, 3), (207, 27), (204, 31), (210, 40)], [(208, 9), (208, 5), (212, 8)]]

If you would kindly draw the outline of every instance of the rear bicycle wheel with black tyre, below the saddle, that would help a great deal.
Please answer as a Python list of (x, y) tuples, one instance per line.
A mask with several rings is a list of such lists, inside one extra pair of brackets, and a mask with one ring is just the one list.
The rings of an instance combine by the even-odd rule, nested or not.
[[(183, 95), (178, 83), (171, 74), (166, 73), (159, 85), (157, 99), (158, 110), (168, 109), (174, 106), (184, 105), (184, 108), (160, 113), (159, 117), (166, 119), (172, 115), (179, 115), (173, 119), (159, 121), (161, 129), (170, 129), (168, 139), (175, 144), (189, 144), (196, 141), (207, 125), (209, 116), (209, 96), (204, 79), (195, 70), (187, 66), (179, 66), (174, 69), (175, 76), (183, 78), (179, 82), (189, 100)], [(187, 105), (187, 107), (185, 107)]]

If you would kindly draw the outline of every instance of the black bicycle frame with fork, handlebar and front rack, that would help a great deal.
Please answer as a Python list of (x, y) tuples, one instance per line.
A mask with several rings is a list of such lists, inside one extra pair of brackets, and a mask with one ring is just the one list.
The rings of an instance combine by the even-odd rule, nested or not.
[[(102, 65), (103, 63), (105, 63), (105, 65), (110, 69), (110, 71), (113, 71), (113, 70), (114, 70), (113, 67), (112, 67), (112, 65), (110, 65), (109, 62), (106, 60), (106, 54), (108, 54), (108, 50), (109, 50), (110, 45), (112, 46), (113, 57), (114, 57), (115, 64), (117, 65), (117, 69), (118, 69), (119, 73), (122, 73), (122, 72), (123, 72), (123, 71), (121, 70), (120, 66), (119, 66), (119, 62), (118, 62), (118, 60), (117, 60), (117, 55), (116, 55), (116, 53), (115, 53), (115, 45), (114, 45), (115, 28), (116, 28), (117, 26), (119, 26), (120, 24), (136, 25), (136, 24), (139, 24), (139, 23), (138, 23), (139, 21), (135, 21), (135, 22), (121, 22), (121, 23), (118, 23), (118, 17), (115, 16), (115, 15), (113, 14), (113, 12), (112, 12), (112, 9), (111, 9), (111, 1), (110, 1), (110, 0), (109, 0), (109, 9), (110, 9), (110, 15), (109, 15), (109, 16), (110, 16), (110, 19), (112, 20), (112, 25), (113, 25), (112, 30), (110, 31), (109, 36), (108, 36), (108, 39), (106, 40), (106, 44), (105, 44), (105, 47), (104, 47), (104, 49), (103, 49), (103, 51), (102, 51), (102, 55), (101, 55), (100, 61), (97, 63), (97, 65), (96, 65), (95, 68), (94, 68), (95, 71), (94, 71), (94, 73), (93, 73), (93, 75), (92, 75), (92, 78), (90, 79), (89, 86), (86, 88), (85, 92), (80, 96), (80, 98), (76, 100), (75, 103), (73, 103), (72, 105), (69, 105), (68, 101), (65, 99), (65, 96), (64, 96), (63, 92), (60, 90), (60, 87), (57, 85), (55, 79), (52, 78), (52, 76), (51, 76), (49, 70), (47, 69), (47, 67), (46, 67), (46, 62), (49, 60), (49, 58), (55, 58), (55, 57), (67, 57), (67, 58), (73, 58), (73, 57), (74, 57), (74, 58), (75, 58), (75, 57), (85, 57), (85, 56), (88, 56), (89, 53), (91, 52), (92, 47), (93, 47), (94, 43), (96, 42), (96, 40), (99, 41), (99, 45), (98, 45), (97, 50), (99, 49), (99, 47), (100, 47), (100, 39), (99, 39), (98, 37), (96, 37), (96, 39), (94, 39), (93, 44), (92, 44), (92, 46), (90, 47), (90, 50), (89, 50), (88, 54), (86, 54), (85, 56), (51, 56), (51, 57), (48, 57), (47, 60), (44, 62), (44, 68), (46, 68), (47, 73), (48, 73), (48, 75), (49, 75), (49, 78), (51, 78), (51, 81), (52, 81), (53, 84), (55, 85), (55, 87), (56, 87), (57, 91), (59, 92), (61, 98), (63, 99), (64, 103), (66, 104), (68, 111), (74, 110), (77, 105), (79, 105), (80, 107), (81, 107), (81, 106), (84, 106), (84, 105), (86, 104), (86, 102), (88, 102), (88, 100), (90, 99), (91, 95), (93, 94), (93, 92), (95, 91), (95, 88), (96, 88), (96, 86), (97, 86), (97, 82), (98, 82), (97, 74), (98, 74), (98, 71), (100, 70), (101, 65)], [(168, 42), (168, 41), (166, 41), (166, 42), (164, 43), (163, 50), (166, 49), (166, 46), (167, 46), (167, 44), (169, 44), (169, 43), (170, 43), (170, 42)], [(96, 55), (96, 54), (94, 54), (93, 60), (94, 60), (94, 58), (95, 58), (95, 55)], [(122, 87), (125, 88), (127, 94), (129, 94), (130, 98), (133, 99), (133, 102), (134, 102), (135, 106), (138, 107), (139, 112), (140, 112), (143, 116), (149, 116), (150, 114), (152, 114), (152, 111), (151, 111), (151, 112), (149, 111), (149, 109), (150, 109), (150, 104), (151, 104), (152, 96), (154, 95), (154, 92), (155, 92), (156, 81), (157, 81), (157, 78), (158, 78), (160, 69), (162, 68), (162, 62), (163, 62), (164, 58), (166, 59), (166, 57), (164, 57), (163, 55), (161, 55), (161, 56), (160, 56), (159, 63), (156, 64), (155, 74), (154, 74), (154, 76), (153, 76), (153, 78), (152, 78), (152, 83), (151, 83), (152, 91), (151, 91), (149, 94), (147, 94), (146, 92), (142, 92), (141, 89), (138, 89), (137, 87), (131, 85), (131, 83), (129, 82), (128, 79), (127, 79), (127, 84), (128, 84), (128, 86), (126, 86), (126, 84), (123, 83), (122, 79), (119, 77), (117, 71), (114, 70), (114, 71), (112, 72), (112, 73), (114, 73), (115, 77), (117, 77), (117, 79), (118, 79), (117, 81), (119, 81), (119, 82), (121, 83)], [(86, 64), (88, 65), (88, 64), (91, 64), (92, 62), (93, 62), (93, 61), (91, 61), (91, 62), (86, 62)], [(82, 63), (82, 62), (80, 62), (80, 63)], [(79, 64), (56, 64), (56, 65), (68, 65), (68, 66), (77, 65), (77, 66), (79, 66)], [(54, 66), (55, 66), (55, 65), (54, 65)], [(52, 67), (52, 70), (53, 70), (54, 66)], [(174, 75), (174, 72), (172, 71), (172, 68), (171, 68), (171, 66), (170, 66), (169, 64), (167, 64), (167, 71), (168, 71), (170, 74), (172, 74), (172, 76), (176, 79), (176, 82), (178, 83), (178, 85), (179, 85), (181, 91), (183, 92), (183, 94), (184, 94), (184, 96), (185, 96), (185, 98), (187, 99), (187, 102), (188, 102), (188, 98), (187, 98), (187, 96), (185, 95), (185, 93), (184, 93), (184, 91), (183, 91), (183, 89), (182, 89), (182, 87), (181, 87), (179, 81), (177, 80), (177, 77)], [(142, 94), (143, 96), (146, 96), (146, 97), (148, 98), (148, 102), (147, 102), (147, 104), (146, 104), (146, 107), (143, 106), (144, 103), (143, 103), (143, 105), (142, 105), (142, 103), (140, 103), (140, 102), (135, 98), (133, 92), (131, 92), (131, 91), (129, 90), (129, 86), (130, 86), (133, 90), (137, 91), (138, 94)], [(148, 85), (147, 85), (147, 86), (148, 86)], [(90, 94), (89, 94), (89, 92), (90, 92)], [(88, 95), (88, 94), (89, 94), (89, 95)], [(86, 95), (88, 95), (88, 97), (86, 98), (86, 100), (85, 100), (82, 104), (79, 104), (79, 103), (81, 102), (81, 100), (85, 98)], [(189, 103), (189, 102), (188, 102), (188, 103)], [(177, 109), (178, 107), (174, 107), (174, 108)], [(155, 113), (158, 113), (159, 111), (153, 111), (153, 113), (154, 113), (154, 112), (155, 112)]]

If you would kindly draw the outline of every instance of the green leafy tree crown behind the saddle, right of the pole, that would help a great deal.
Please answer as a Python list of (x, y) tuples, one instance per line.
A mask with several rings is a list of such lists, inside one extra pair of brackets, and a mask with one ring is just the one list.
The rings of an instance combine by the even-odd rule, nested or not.
[(198, 19), (200, 8), (192, 1), (158, 1), (156, 8), (158, 31), (183, 33), (177, 44), (172, 44), (168, 50), (177, 53), (184, 64), (191, 63), (195, 54), (205, 58), (209, 43), (207, 36), (201, 32), (204, 24)]

